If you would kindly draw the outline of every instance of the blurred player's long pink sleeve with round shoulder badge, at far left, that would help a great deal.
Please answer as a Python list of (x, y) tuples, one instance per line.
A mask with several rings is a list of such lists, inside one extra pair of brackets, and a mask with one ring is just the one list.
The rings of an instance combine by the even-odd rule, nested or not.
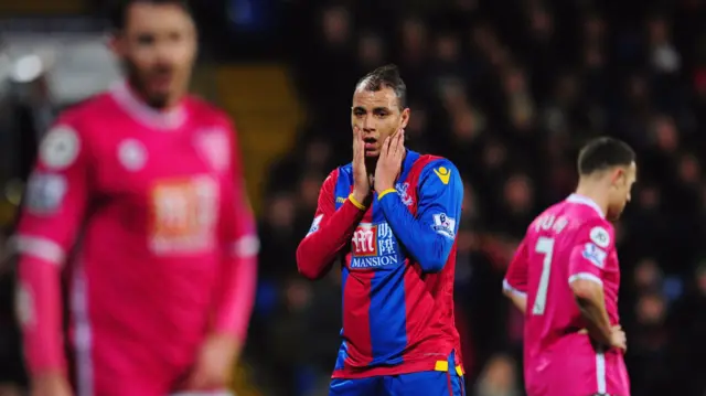
[(30, 372), (65, 371), (61, 269), (84, 220), (88, 154), (75, 127), (60, 122), (40, 147), (18, 234), (18, 315)]

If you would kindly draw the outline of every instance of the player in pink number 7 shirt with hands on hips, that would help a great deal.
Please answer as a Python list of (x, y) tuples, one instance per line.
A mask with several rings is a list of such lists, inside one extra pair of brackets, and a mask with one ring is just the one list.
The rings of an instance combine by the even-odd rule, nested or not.
[(630, 201), (634, 160), (612, 138), (586, 145), (576, 193), (535, 218), (510, 264), (503, 289), (525, 313), (528, 396), (630, 395), (609, 221)]

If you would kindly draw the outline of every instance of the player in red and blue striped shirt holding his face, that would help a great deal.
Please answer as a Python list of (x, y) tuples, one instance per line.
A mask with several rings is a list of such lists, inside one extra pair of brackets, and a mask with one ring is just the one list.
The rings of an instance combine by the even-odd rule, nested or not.
[(309, 279), (341, 263), (331, 396), (463, 394), (452, 293), (463, 184), (449, 160), (405, 147), (405, 101), (395, 66), (357, 83), (353, 161), (323, 182), (297, 249)]

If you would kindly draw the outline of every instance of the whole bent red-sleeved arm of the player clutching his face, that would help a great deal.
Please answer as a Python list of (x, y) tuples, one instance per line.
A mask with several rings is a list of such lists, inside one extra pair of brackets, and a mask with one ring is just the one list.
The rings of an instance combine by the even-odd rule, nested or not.
[(338, 176), (339, 171), (334, 170), (323, 182), (311, 229), (297, 248), (297, 268), (309, 279), (321, 278), (331, 269), (335, 256), (350, 243), (366, 211), (352, 195), (335, 210)]

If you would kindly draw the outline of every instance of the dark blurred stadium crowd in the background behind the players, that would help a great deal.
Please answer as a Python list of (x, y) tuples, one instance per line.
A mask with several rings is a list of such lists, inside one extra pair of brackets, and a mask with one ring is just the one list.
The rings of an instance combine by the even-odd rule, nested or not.
[[(633, 396), (703, 396), (706, 1), (322, 3), (290, 4), (281, 28), (310, 117), (264, 186), (245, 356), (264, 393), (325, 394), (340, 342), (340, 274), (307, 281), (295, 250), (325, 172), (351, 159), (355, 81), (394, 62), (413, 110), (408, 146), (463, 172), (456, 309), (469, 393), (523, 394), (522, 318), (501, 295), (502, 277), (532, 218), (574, 189), (578, 146), (608, 133), (639, 153), (639, 182), (618, 224)], [(0, 298), (10, 289), (0, 286)], [(11, 317), (0, 311), (4, 351), (17, 350)], [(21, 377), (18, 361), (1, 360), (2, 374)]]

